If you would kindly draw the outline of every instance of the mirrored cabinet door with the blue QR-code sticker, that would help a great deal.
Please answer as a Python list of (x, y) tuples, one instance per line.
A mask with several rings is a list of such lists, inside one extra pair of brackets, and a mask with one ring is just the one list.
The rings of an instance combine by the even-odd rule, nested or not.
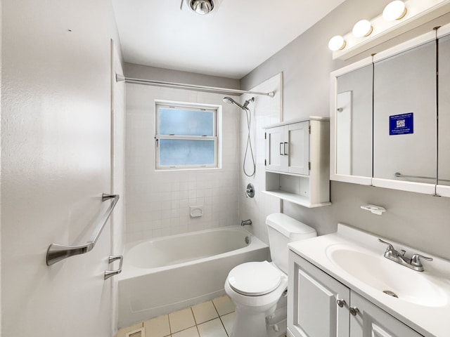
[(375, 62), (373, 185), (375, 178), (423, 183), (416, 192), (434, 194), (436, 90), (435, 41)]

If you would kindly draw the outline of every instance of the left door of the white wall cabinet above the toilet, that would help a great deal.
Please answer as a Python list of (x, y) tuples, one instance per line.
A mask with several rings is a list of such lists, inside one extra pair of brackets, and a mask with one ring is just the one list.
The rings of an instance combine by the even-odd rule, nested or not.
[(285, 171), (284, 126), (268, 128), (266, 131), (266, 169)]

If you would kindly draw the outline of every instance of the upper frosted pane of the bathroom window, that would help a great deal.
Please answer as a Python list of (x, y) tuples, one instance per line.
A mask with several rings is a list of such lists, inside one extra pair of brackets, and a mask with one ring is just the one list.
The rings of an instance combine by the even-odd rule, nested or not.
[(160, 108), (160, 135), (214, 136), (214, 113)]

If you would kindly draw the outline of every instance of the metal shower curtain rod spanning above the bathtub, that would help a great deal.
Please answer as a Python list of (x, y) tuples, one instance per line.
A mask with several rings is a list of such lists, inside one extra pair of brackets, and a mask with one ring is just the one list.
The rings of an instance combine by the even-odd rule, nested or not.
[(266, 95), (269, 97), (274, 97), (274, 91), (269, 93), (260, 93), (258, 91), (246, 91), (246, 90), (238, 90), (238, 89), (229, 89), (229, 88), (217, 88), (214, 86), (196, 86), (195, 84), (182, 84), (182, 83), (174, 83), (174, 82), (164, 82), (164, 81), (153, 81), (151, 79), (133, 79), (131, 77), (124, 77), (120, 74), (115, 74), (116, 82), (126, 82), (126, 83), (134, 83), (134, 84), (144, 84), (147, 86), (167, 86), (168, 88), (181, 88), (181, 89), (191, 89), (198, 91), (211, 91), (214, 93), (250, 93), (251, 95)]

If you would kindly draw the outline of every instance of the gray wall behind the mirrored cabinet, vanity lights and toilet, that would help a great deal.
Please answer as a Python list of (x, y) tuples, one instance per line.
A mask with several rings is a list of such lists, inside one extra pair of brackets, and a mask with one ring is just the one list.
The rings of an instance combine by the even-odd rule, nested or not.
[[(331, 71), (429, 32), (436, 25), (450, 22), (450, 15), (446, 14), (345, 62), (333, 61), (328, 50), (330, 37), (351, 31), (358, 20), (375, 18), (389, 2), (390, 0), (345, 1), (241, 79), (241, 88), (252, 88), (274, 74), (283, 72), (285, 120), (309, 115), (328, 116)], [(285, 202), (284, 211), (316, 227), (319, 234), (334, 232), (337, 224), (342, 222), (437, 256), (450, 258), (450, 198), (332, 182), (331, 199), (331, 206), (318, 209), (305, 209)], [(368, 203), (385, 206), (387, 212), (383, 216), (375, 216), (360, 209), (359, 206)]]

